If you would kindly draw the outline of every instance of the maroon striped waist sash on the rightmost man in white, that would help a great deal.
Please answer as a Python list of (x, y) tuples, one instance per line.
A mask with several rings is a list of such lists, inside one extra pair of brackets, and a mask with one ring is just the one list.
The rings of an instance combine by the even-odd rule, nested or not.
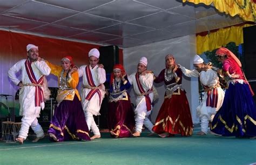
[[(209, 90), (210, 87), (202, 84), (205, 90)], [(212, 98), (211, 98), (212, 94)], [(218, 103), (218, 89), (217, 87), (213, 88), (213, 90), (207, 91), (207, 99), (206, 99), (206, 107), (216, 108)]]

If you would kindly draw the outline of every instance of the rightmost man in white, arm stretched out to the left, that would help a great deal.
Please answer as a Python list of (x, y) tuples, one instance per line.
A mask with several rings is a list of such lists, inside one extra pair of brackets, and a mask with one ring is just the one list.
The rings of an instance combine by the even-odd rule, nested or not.
[(204, 60), (198, 55), (194, 56), (193, 65), (195, 70), (187, 70), (179, 65), (181, 71), (187, 77), (199, 77), (200, 83), (204, 87), (204, 98), (197, 107), (197, 114), (201, 121), (201, 131), (198, 135), (206, 135), (208, 123), (212, 121), (215, 113), (219, 110), (224, 100), (224, 91), (219, 85), (217, 72), (213, 71), (210, 66), (204, 64)]

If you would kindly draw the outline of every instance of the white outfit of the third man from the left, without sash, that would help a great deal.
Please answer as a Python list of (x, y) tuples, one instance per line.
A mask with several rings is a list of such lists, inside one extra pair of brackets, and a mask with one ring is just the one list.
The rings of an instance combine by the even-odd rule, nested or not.
[[(140, 92), (139, 92), (139, 88), (138, 88), (138, 85), (137, 85), (135, 75), (136, 75), (136, 73), (133, 73), (128, 77), (128, 79), (130, 81), (130, 84), (133, 85), (134, 93), (137, 95), (136, 96), (136, 109), (134, 109), (135, 122), (136, 122), (135, 123), (135, 131), (142, 132), (142, 127), (143, 127), (143, 124), (144, 124), (145, 127), (147, 129), (149, 129), (150, 132), (152, 132), (153, 124), (149, 120), (149, 118), (147, 118), (151, 114), (151, 111), (147, 111), (145, 97), (143, 95), (139, 96)], [(142, 87), (143, 87), (145, 92), (152, 88), (153, 80), (154, 80), (154, 77), (153, 77), (152, 73), (139, 76), (140, 84), (142, 84)], [(154, 97), (153, 92), (149, 94), (149, 97), (150, 97), (150, 100), (152, 102), (153, 97)], [(151, 106), (151, 110), (152, 110), (152, 106)]]

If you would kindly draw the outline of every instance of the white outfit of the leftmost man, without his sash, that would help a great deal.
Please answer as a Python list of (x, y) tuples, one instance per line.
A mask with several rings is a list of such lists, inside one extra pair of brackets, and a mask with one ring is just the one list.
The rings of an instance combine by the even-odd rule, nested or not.
[[(15, 74), (20, 70), (22, 70), (22, 83), (31, 84), (28, 73), (26, 73), (25, 61), (26, 59), (18, 61), (8, 71), (9, 78), (14, 82), (15, 85), (18, 85), (20, 82)], [(37, 80), (43, 75), (49, 75), (51, 72), (50, 67), (44, 61), (35, 61), (31, 64), (31, 67)], [(37, 118), (39, 117), (41, 108), (44, 109), (44, 102), (41, 103), (41, 106), (36, 107), (35, 93), (36, 87), (34, 86), (24, 86), (19, 91), (19, 104), (21, 106), (19, 114), (23, 116), (21, 130), (19, 130), (19, 137), (23, 139), (26, 139), (28, 136), (30, 126), (36, 133), (37, 137), (43, 136), (43, 129), (38, 124)]]

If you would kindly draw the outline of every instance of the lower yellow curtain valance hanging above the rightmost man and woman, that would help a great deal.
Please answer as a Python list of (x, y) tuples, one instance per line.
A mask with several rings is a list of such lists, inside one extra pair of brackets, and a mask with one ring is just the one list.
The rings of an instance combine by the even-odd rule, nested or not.
[(242, 28), (248, 26), (252, 26), (252, 24), (222, 28), (218, 31), (210, 32), (206, 36), (197, 35), (197, 54), (226, 46), (230, 42), (234, 42), (235, 45), (244, 43)]

